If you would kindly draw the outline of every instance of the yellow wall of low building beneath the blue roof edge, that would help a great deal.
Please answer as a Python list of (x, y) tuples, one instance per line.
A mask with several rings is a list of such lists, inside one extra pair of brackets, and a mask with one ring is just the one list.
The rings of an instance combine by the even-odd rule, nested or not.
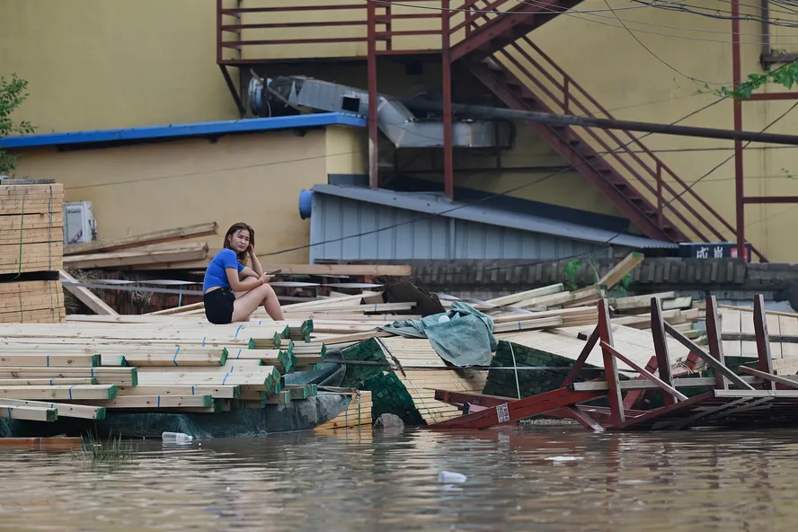
[[(326, 182), (324, 130), (194, 138), (157, 144), (26, 150), (20, 177), (55, 179), (67, 201), (91, 201), (100, 239), (139, 235), (215, 221), (220, 235), (199, 239), (222, 246), (227, 227), (255, 230), (259, 254), (306, 245), (309, 220), (298, 212), (299, 191)], [(307, 263), (307, 249), (269, 257)]]

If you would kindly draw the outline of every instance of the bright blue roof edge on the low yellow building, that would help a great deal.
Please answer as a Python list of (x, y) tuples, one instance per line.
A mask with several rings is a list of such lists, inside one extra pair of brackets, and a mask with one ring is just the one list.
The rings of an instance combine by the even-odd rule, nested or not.
[(98, 129), (94, 131), (72, 131), (68, 133), (46, 133), (21, 137), (0, 138), (0, 148), (26, 148), (87, 144), (93, 142), (125, 142), (170, 137), (201, 137), (246, 133), (276, 129), (318, 128), (324, 126), (351, 126), (365, 128), (366, 119), (341, 112), (302, 114), (265, 119), (219, 120), (129, 129)]

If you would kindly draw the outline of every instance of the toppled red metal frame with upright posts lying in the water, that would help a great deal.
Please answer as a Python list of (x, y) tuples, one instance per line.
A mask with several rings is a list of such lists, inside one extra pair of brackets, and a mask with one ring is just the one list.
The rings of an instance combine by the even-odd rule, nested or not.
[[(745, 429), (766, 426), (798, 426), (798, 377), (777, 376), (770, 355), (764, 297), (754, 299), (754, 330), (757, 341), (758, 368), (740, 366), (740, 376), (726, 365), (723, 356), (720, 317), (714, 296), (706, 299), (708, 350), (698, 346), (662, 319), (660, 302), (652, 297), (652, 339), (656, 360), (646, 368), (616, 350), (607, 300), (599, 303), (599, 324), (581, 351), (563, 385), (551, 392), (524, 399), (474, 395), (436, 390), (435, 398), (463, 406), (469, 413), (429, 426), (435, 430), (486, 429), (545, 414), (579, 421), (588, 430), (682, 430), (693, 427)], [(671, 372), (666, 333), (690, 350), (687, 369), (703, 359), (713, 377), (679, 378)], [(798, 340), (798, 338), (794, 338)], [(574, 382), (596, 345), (604, 361), (604, 378)], [(640, 377), (621, 381), (617, 360), (634, 368)], [(658, 375), (654, 375), (658, 371)], [(685, 390), (703, 388), (687, 397)], [(711, 388), (711, 389), (707, 389)], [(650, 390), (660, 390), (664, 405), (652, 410), (633, 410), (637, 397)], [(588, 403), (606, 400), (608, 406)]]

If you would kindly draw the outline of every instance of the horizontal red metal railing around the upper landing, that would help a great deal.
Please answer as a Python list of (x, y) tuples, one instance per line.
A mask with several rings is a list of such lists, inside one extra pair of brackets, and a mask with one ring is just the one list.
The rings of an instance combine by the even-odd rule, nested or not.
[[(225, 7), (225, 0), (217, 0), (217, 63), (219, 65), (241, 65), (247, 63), (263, 63), (270, 57), (244, 58), (244, 49), (258, 46), (289, 46), (363, 43), (362, 53), (356, 57), (366, 56), (366, 43), (373, 35), (377, 41), (377, 54), (410, 54), (419, 52), (438, 52), (434, 49), (396, 49), (395, 39), (402, 37), (439, 36), (440, 23), (431, 24), (425, 29), (396, 29), (397, 23), (420, 20), (440, 20), (439, 9), (425, 10), (422, 13), (395, 13), (393, 0), (374, 3), (374, 25), (369, 24), (368, 7), (372, 0), (352, 0), (348, 4), (306, 4), (301, 0), (297, 5), (270, 6), (269, 0), (255, 2), (257, 7)], [(440, 0), (412, 0), (413, 4), (436, 4)], [(403, 4), (403, 3), (401, 3)], [(403, 4), (401, 7), (405, 7)], [(408, 9), (404, 9), (408, 11)], [(297, 22), (301, 13), (301, 22)], [(329, 20), (331, 13), (338, 13)], [(260, 22), (268, 17), (270, 22)], [(313, 20), (315, 19), (315, 20)], [(256, 22), (258, 21), (258, 22)], [(296, 35), (284, 37), (286, 30), (296, 30)], [(258, 38), (244, 38), (244, 31), (258, 31)], [(319, 36), (320, 32), (327, 35)], [(234, 49), (239, 52), (238, 58), (225, 58), (224, 51)]]

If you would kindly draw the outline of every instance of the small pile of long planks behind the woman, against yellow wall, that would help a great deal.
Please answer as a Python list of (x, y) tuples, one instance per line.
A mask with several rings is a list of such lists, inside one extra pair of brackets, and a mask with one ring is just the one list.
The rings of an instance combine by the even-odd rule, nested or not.
[(144, 266), (167, 269), (174, 262), (208, 258), (208, 243), (181, 241), (217, 235), (217, 232), (217, 223), (208, 222), (116, 240), (69, 244), (64, 250), (64, 264), (74, 270), (139, 270)]

